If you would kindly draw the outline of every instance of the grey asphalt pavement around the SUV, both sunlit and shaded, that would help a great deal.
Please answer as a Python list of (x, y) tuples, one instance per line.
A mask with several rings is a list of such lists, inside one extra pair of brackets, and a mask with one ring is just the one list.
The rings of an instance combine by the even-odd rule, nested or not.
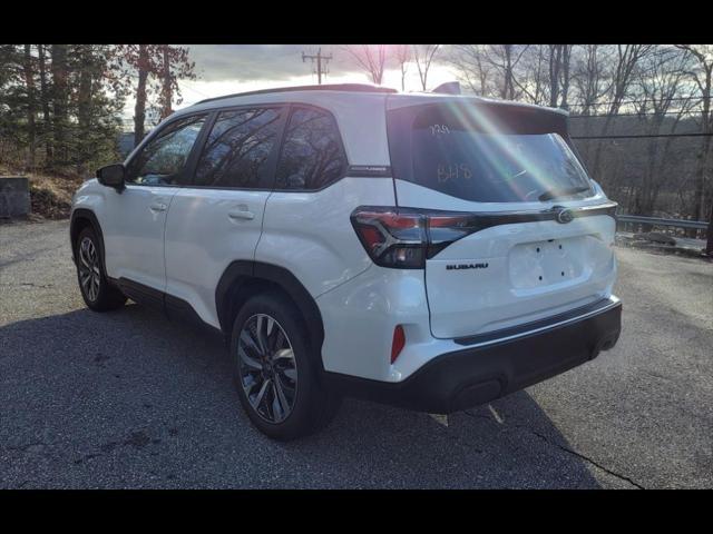
[(713, 487), (713, 264), (619, 248), (618, 345), (450, 417), (346, 399), (287, 444), (219, 338), (81, 300), (68, 222), (0, 225), (0, 487)]

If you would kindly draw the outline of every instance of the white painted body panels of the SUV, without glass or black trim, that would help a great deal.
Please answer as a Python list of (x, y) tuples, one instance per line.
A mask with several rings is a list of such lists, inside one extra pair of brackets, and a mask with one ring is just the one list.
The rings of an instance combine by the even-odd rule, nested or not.
[[(319, 106), (334, 115), (350, 165), (389, 166), (387, 107), (453, 98), (290, 91), (213, 100), (174, 116), (251, 103)], [(585, 200), (522, 202), (517, 209), (605, 202), (602, 189), (595, 189)], [(359, 206), (394, 205), (514, 209), (512, 204), (471, 202), (390, 177), (359, 176), (300, 192), (129, 185), (118, 194), (89, 180), (76, 195), (74, 209), (96, 215), (110, 277), (182, 298), (216, 327), (216, 286), (232, 261), (255, 259), (286, 268), (321, 313), (324, 368), (375, 380), (403, 380), (432, 358), (463, 348), (452, 339), (458, 336), (529, 323), (598, 298), (617, 301), (612, 296), (616, 263), (611, 217), (488, 228), (453, 243), (429, 259), (426, 269), (393, 269), (370, 259), (350, 215)], [(559, 245), (561, 253), (555, 248)], [(538, 247), (547, 255), (538, 256)], [(447, 273), (445, 264), (458, 260), (487, 263), (488, 268)], [(558, 278), (561, 271), (566, 275)], [(391, 364), (395, 325), (403, 325), (407, 345)]]

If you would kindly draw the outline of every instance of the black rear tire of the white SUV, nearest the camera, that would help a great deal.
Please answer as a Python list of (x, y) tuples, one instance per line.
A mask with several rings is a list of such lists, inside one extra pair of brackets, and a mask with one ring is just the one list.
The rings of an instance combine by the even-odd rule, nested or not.
[[(253, 352), (254, 348), (258, 347), (251, 348), (245, 342), (242, 342), (241, 346), (243, 350), (242, 354), (250, 354), (251, 358), (254, 357), (254, 362), (262, 362), (263, 370), (261, 372), (254, 370), (255, 367), (247, 366), (244, 363), (244, 358), (238, 354), (238, 342), (243, 328), (245, 327), (252, 333), (248, 334), (252, 335), (251, 339), (253, 342), (256, 340), (254, 335), (255, 330), (251, 329), (251, 327), (257, 324), (256, 322), (260, 317), (265, 322), (267, 322), (268, 318), (273, 319), (276, 322), (277, 327), (286, 335), (286, 345), (291, 346), (294, 359), (290, 360), (289, 358), (284, 358), (287, 363), (280, 365), (283, 365), (285, 368), (290, 367), (289, 370), (292, 370), (294, 367), (296, 370), (296, 379), (294, 383), (284, 374), (277, 376), (279, 370), (276, 369), (279, 369), (279, 364), (276, 359), (271, 360), (270, 356), (260, 359), (261, 357), (256, 356), (258, 353)], [(276, 354), (274, 346), (280, 343), (279, 340), (284, 340), (279, 330), (274, 329), (274, 325), (275, 323), (273, 323), (272, 332), (276, 332), (276, 334), (273, 334), (273, 338), (267, 338), (268, 344), (272, 344), (273, 348), (265, 350), (267, 355), (272, 350), (273, 357)], [(265, 329), (266, 328), (267, 326), (265, 326)], [(284, 345), (282, 346), (284, 347)], [(285, 348), (284, 350), (289, 349)], [(336, 414), (340, 398), (333, 392), (325, 389), (320, 383), (318, 369), (319, 357), (320, 355), (315, 354), (310, 346), (307, 329), (300, 312), (292, 301), (283, 295), (279, 293), (257, 295), (242, 307), (233, 323), (231, 336), (233, 379), (243, 408), (247, 413), (251, 422), (263, 434), (279, 441), (295, 439), (321, 429)], [(272, 364), (267, 364), (267, 367), (270, 367), (267, 370), (265, 362), (272, 362)], [(248, 367), (251, 369), (250, 373), (246, 372)], [(270, 385), (266, 386), (264, 396), (262, 397), (264, 404), (256, 408), (251, 403), (244, 384), (248, 384), (247, 388), (251, 392), (253, 402), (255, 402), (260, 394), (261, 383), (258, 380), (261, 379), (264, 380), (263, 384), (267, 382)], [(279, 382), (282, 385), (280, 386), (282, 396), (277, 395), (277, 388), (273, 382)], [(294, 385), (294, 389), (287, 387), (289, 385)], [(290, 395), (287, 395), (287, 392), (294, 392), (294, 395), (291, 396), (292, 404), (290, 404)], [(277, 409), (277, 406), (273, 404), (275, 398), (277, 398), (279, 402), (277, 406), (282, 406), (282, 404), (286, 402), (286, 405), (290, 407), (289, 414), (284, 416), (284, 413), (287, 413), (287, 409), (284, 409), (280, 414), (284, 416), (284, 418), (276, 422), (270, 421), (271, 415), (274, 416), (276, 412), (281, 412), (281, 409)]]

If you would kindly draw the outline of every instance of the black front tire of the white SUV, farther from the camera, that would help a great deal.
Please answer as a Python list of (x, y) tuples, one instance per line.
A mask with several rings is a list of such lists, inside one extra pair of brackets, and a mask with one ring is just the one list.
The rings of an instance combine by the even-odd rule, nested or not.
[[(90, 266), (87, 268), (87, 256), (82, 250), (82, 244), (89, 241), (94, 251), (95, 261), (89, 261)], [(75, 259), (77, 264), (77, 281), (79, 284), (79, 290), (81, 297), (85, 299), (85, 304), (89, 309), (95, 312), (109, 312), (111, 309), (120, 308), (126, 304), (126, 296), (107, 279), (107, 275), (104, 271), (104, 258), (101, 257), (101, 247), (99, 247), (99, 239), (96, 231), (90, 226), (86, 227), (79, 233), (77, 243), (75, 244)], [(97, 273), (98, 271), (98, 273)], [(86, 276), (91, 274), (89, 285), (82, 284), (82, 280), (87, 280)], [(96, 285), (94, 285), (96, 284)], [(98, 288), (97, 288), (98, 285)], [(90, 286), (90, 287), (89, 287)]]

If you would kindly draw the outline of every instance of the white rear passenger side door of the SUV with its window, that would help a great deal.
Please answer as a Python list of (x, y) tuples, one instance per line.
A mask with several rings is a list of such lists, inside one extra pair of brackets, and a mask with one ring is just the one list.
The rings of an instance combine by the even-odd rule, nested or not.
[(214, 113), (192, 179), (170, 204), (166, 293), (189, 303), (213, 326), (219, 326), (215, 288), (221, 275), (231, 261), (255, 256), (285, 116), (283, 106)]

